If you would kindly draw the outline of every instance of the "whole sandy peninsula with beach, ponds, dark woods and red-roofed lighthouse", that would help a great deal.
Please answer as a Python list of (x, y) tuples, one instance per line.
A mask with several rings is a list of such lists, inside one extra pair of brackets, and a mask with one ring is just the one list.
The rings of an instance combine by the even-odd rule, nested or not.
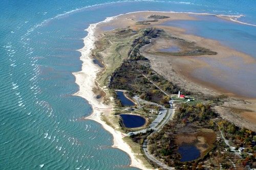
[(80, 86), (75, 95), (92, 105), (92, 115), (84, 118), (113, 134), (113, 147), (129, 154), (131, 166), (255, 166), (256, 100), (202, 81), (200, 71), (193, 75), (214, 69), (205, 59), (255, 59), (165, 24), (201, 15), (238, 17), (144, 11), (106, 18), (87, 29), (82, 70), (74, 73)]

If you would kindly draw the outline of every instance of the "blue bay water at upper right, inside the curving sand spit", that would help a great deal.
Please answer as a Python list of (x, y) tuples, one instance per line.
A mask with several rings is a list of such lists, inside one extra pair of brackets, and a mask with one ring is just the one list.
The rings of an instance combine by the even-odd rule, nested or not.
[(223, 45), (256, 59), (256, 27), (223, 20), (216, 16), (199, 15), (196, 18), (199, 20), (168, 21), (163, 25), (183, 28), (186, 34), (218, 40)]

